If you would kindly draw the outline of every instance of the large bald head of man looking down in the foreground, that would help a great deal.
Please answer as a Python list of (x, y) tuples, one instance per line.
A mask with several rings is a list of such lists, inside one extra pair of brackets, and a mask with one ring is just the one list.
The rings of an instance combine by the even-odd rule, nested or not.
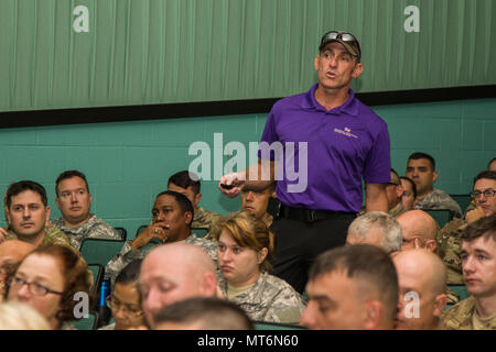
[(200, 246), (170, 243), (157, 246), (143, 260), (140, 290), (148, 322), (153, 314), (175, 301), (214, 297), (217, 293), (215, 264)]

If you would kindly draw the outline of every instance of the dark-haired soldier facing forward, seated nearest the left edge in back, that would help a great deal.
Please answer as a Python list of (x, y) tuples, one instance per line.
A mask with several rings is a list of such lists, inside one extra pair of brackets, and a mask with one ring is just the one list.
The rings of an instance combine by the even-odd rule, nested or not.
[(6, 216), (9, 230), (0, 228), (6, 240), (20, 240), (34, 246), (54, 243), (74, 250), (64, 232), (46, 227), (50, 207), (42, 185), (32, 180), (11, 184), (6, 194)]

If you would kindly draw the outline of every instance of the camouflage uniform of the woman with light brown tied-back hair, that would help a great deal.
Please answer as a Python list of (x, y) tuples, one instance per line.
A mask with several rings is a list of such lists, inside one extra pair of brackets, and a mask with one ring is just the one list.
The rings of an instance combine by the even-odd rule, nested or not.
[[(227, 297), (227, 282), (219, 283)], [(258, 280), (247, 292), (233, 297), (254, 321), (298, 324), (306, 301), (283, 279), (261, 273)]]

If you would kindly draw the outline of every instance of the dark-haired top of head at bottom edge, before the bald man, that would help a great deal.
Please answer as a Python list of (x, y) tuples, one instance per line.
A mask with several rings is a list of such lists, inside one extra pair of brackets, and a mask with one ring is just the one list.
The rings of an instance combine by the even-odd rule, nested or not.
[(246, 312), (226, 299), (195, 297), (161, 309), (154, 317), (161, 322), (200, 323), (200, 330), (254, 330)]

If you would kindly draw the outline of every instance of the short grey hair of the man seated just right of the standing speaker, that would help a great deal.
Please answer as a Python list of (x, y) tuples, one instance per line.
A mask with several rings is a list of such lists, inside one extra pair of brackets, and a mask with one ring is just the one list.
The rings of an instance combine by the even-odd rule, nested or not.
[(365, 239), (373, 229), (381, 230), (381, 248), (386, 252), (391, 253), (401, 251), (403, 240), (401, 226), (393, 217), (386, 212), (369, 211), (359, 216), (349, 224), (348, 233)]

